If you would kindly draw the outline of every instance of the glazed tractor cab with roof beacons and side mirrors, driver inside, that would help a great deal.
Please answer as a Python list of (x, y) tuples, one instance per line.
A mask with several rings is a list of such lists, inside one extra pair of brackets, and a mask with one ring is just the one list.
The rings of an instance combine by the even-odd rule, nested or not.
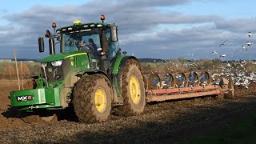
[(50, 54), (55, 54), (54, 39), (57, 39), (60, 53), (86, 53), (90, 70), (107, 70), (111, 59), (118, 54), (118, 34), (117, 26), (104, 23), (104, 15), (101, 16), (101, 20), (102, 22), (89, 23), (76, 20), (73, 26), (65, 26), (58, 30), (55, 30), (56, 23), (53, 23), (54, 34), (47, 30), (46, 34), (38, 39), (39, 52), (44, 51), (43, 38), (49, 38)]

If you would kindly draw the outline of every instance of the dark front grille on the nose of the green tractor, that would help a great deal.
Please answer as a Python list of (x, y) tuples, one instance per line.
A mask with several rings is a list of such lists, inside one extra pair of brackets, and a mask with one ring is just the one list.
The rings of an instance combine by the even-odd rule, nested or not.
[[(47, 62), (46, 66), (46, 77), (48, 82), (60, 82), (64, 80), (66, 72), (69, 70), (69, 62), (64, 60), (61, 66), (52, 66), (50, 62)], [(65, 70), (63, 70), (65, 67)], [(42, 70), (42, 75), (45, 76), (45, 73)]]

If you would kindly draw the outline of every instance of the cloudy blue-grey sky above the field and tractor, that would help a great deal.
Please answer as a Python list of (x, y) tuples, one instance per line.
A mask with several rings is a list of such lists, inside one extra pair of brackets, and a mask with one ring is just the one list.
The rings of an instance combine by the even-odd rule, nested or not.
[(138, 58), (198, 59), (226, 54), (223, 59), (256, 59), (256, 42), (246, 45), (256, 40), (255, 4), (253, 0), (4, 1), (0, 58), (13, 58), (14, 50), (18, 58), (43, 58), (49, 52), (38, 53), (38, 36), (47, 29), (53, 32), (52, 22), (58, 27), (70, 26), (76, 19), (100, 22), (100, 15), (105, 14), (105, 22), (118, 26), (122, 51)]

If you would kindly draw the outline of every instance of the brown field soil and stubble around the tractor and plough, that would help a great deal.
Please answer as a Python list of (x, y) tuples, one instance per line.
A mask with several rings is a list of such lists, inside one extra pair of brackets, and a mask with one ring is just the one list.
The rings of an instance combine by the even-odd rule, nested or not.
[(0, 143), (181, 143), (256, 112), (256, 84), (250, 83), (249, 89), (236, 88), (234, 99), (153, 102), (143, 114), (113, 113), (102, 123), (77, 122), (70, 112), (59, 115), (58, 121), (43, 122), (38, 116), (26, 119), (14, 114), (8, 98), (11, 90), (18, 90), (17, 81), (0, 81)]

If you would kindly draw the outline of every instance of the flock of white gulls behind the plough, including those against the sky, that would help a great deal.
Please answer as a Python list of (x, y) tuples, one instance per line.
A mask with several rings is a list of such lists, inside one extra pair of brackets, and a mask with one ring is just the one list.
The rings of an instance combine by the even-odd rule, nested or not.
[[(251, 34), (250, 32), (248, 33), (248, 37), (252, 38), (253, 34)], [(224, 45), (226, 45), (228, 41), (224, 41), (222, 42), (222, 44), (219, 45), (219, 47), (222, 47)], [(249, 47), (253, 45), (253, 42), (246, 42), (246, 46), (242, 46), (242, 49), (247, 51), (249, 50)], [(218, 55), (217, 50), (212, 51), (212, 54), (215, 54), (218, 56), (218, 58), (225, 58), (226, 54), (220, 54)], [(193, 56), (193, 55), (192, 55)], [(206, 71), (214, 71), (214, 73), (211, 75), (211, 79), (212, 79), (212, 84), (214, 85), (218, 85), (219, 82), (221, 81), (222, 77), (228, 78), (230, 79), (235, 86), (240, 86), (240, 87), (244, 87), (246, 89), (249, 88), (250, 83), (254, 82), (256, 83), (256, 71), (252, 72), (252, 70), (250, 70), (250, 66), (246, 66), (247, 62), (250, 62), (252, 66), (256, 66), (256, 62), (254, 61), (233, 61), (233, 62), (226, 62), (226, 66), (225, 65), (219, 65), (216, 66), (214, 65), (214, 63), (211, 63), (211, 70), (207, 70), (207, 68), (202, 67), (202, 63), (200, 61), (194, 61), (194, 62), (179, 62), (177, 61), (168, 61), (163, 59), (162, 62), (166, 62), (166, 64), (168, 63), (169, 65), (167, 66), (167, 70), (170, 70), (170, 73), (172, 73), (172, 67), (176, 67), (178, 68), (179, 66), (183, 66), (186, 68), (191, 68), (191, 67), (201, 67), (202, 70), (206, 70)], [(212, 62), (212, 61), (211, 61)], [(225, 63), (224, 63), (225, 64)], [(172, 66), (170, 66), (172, 65)], [(154, 62), (151, 63), (150, 66), (155, 66), (156, 69), (159, 69), (159, 62), (156, 62), (154, 60)], [(209, 68), (209, 67), (208, 67)], [(157, 73), (157, 71), (152, 71), (151, 73)], [(163, 84), (166, 82), (162, 82), (162, 86)]]

